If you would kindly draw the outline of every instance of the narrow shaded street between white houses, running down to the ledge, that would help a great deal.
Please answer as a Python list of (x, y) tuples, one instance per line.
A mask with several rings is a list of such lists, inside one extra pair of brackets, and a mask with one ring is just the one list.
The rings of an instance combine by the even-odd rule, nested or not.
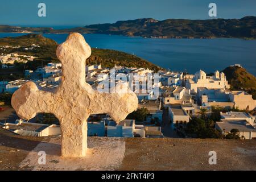
[(168, 110), (166, 109), (163, 110), (162, 133), (166, 138), (181, 138), (177, 135), (176, 131), (174, 131), (168, 119)]

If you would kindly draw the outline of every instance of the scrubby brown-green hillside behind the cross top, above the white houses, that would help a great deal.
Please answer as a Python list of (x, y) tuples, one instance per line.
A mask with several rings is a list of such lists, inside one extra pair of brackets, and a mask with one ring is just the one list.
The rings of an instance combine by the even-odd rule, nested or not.
[[(38, 44), (32, 50), (24, 50), (24, 47), (31, 46), (31, 44)], [(37, 58), (35, 61), (30, 61), (24, 65), (23, 69), (36, 69), (37, 67), (46, 65), (49, 62), (59, 62), (56, 57), (57, 43), (51, 39), (45, 38), (40, 34), (28, 34), (16, 38), (0, 38), (0, 46), (22, 46), (21, 48), (0, 50), (0, 53), (20, 53), (24, 55), (33, 55)], [(96, 49), (92, 48), (92, 56), (86, 60), (88, 65), (102, 64), (103, 67), (114, 67), (115, 64), (126, 67), (149, 68), (158, 71), (158, 66), (141, 59), (140, 57), (130, 55), (125, 52), (114, 51), (110, 49)], [(6, 71), (6, 69), (5, 69)], [(3, 72), (2, 72), (3, 73)]]

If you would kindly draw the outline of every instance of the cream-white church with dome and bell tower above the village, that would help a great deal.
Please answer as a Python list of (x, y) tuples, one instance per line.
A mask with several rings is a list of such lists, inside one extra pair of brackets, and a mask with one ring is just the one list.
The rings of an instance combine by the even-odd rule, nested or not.
[(214, 72), (214, 76), (207, 76), (204, 71), (200, 70), (195, 73), (195, 76), (186, 80), (185, 87), (191, 89), (192, 93), (197, 93), (197, 88), (200, 87), (208, 89), (229, 89), (230, 85), (223, 72), (216, 71)]

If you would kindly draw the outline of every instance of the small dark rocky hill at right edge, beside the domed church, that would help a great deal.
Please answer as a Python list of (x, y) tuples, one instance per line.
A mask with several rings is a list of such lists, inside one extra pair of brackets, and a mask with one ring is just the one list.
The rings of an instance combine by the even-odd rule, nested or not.
[(241, 67), (228, 67), (223, 71), (231, 85), (231, 90), (245, 90), (256, 100), (256, 78)]

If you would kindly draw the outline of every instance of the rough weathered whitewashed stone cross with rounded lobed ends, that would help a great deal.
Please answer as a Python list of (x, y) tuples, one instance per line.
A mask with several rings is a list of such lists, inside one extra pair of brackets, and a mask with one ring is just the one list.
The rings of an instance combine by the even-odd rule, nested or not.
[(39, 90), (30, 81), (16, 90), (11, 99), (20, 118), (28, 120), (37, 113), (52, 113), (59, 119), (63, 157), (86, 155), (86, 120), (90, 114), (109, 114), (119, 122), (138, 107), (136, 94), (125, 84), (119, 84), (115, 93), (100, 93), (85, 82), (85, 60), (90, 54), (90, 46), (81, 34), (69, 34), (56, 51), (62, 63), (62, 78), (56, 91)]

